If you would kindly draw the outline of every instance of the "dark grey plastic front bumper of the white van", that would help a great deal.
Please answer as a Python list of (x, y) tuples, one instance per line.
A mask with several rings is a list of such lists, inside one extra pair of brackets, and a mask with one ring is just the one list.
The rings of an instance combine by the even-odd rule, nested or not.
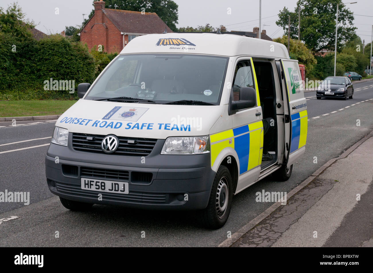
[[(137, 156), (73, 150), (71, 138), (68, 147), (51, 143), (45, 159), (48, 187), (57, 196), (85, 203), (142, 209), (204, 209), (215, 176), (210, 153), (161, 155), (163, 143), (164, 140), (157, 140), (153, 151), (145, 156), (145, 163)], [(92, 174), (87, 176), (84, 171), (87, 169), (92, 170)], [(113, 173), (119, 173), (117, 179), (101, 175)], [(97, 174), (100, 177), (95, 176)], [(128, 182), (129, 194), (83, 190), (81, 177)], [(98, 194), (102, 194), (100, 201)]]

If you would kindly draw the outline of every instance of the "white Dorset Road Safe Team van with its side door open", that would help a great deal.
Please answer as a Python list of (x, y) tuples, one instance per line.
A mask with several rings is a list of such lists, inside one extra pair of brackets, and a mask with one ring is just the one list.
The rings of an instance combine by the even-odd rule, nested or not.
[(140, 36), (78, 96), (46, 155), (48, 187), (71, 210), (198, 210), (220, 228), (233, 195), (272, 173), (287, 180), (305, 150), (298, 62), (276, 42)]

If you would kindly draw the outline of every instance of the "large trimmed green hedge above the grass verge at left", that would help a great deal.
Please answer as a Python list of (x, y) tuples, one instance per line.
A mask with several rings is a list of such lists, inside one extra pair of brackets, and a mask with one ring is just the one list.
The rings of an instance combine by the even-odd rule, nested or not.
[[(78, 84), (95, 79), (95, 60), (80, 42), (60, 35), (18, 39), (1, 32), (0, 39), (0, 100), (77, 99)], [(75, 93), (44, 90), (50, 78), (74, 80)]]

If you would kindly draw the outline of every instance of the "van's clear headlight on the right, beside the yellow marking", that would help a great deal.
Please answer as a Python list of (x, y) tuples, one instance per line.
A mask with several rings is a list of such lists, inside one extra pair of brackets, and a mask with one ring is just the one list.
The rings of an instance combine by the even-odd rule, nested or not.
[(169, 137), (164, 142), (162, 155), (193, 155), (210, 152), (210, 137)]

